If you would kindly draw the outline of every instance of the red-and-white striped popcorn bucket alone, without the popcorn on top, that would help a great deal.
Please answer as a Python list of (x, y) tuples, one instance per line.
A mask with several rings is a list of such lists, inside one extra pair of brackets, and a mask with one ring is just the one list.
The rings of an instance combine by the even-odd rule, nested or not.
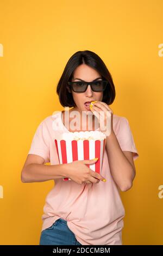
[[(91, 160), (98, 157), (96, 163), (86, 164), (91, 170), (101, 174), (106, 139), (55, 139), (55, 146), (60, 164), (76, 160)], [(71, 180), (64, 178), (63, 180)]]

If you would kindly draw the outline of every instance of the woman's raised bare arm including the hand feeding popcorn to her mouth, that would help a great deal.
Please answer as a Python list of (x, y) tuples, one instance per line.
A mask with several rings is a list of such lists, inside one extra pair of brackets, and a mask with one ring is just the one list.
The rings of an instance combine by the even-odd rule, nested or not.
[[(112, 178), (121, 191), (127, 191), (133, 185), (133, 180), (135, 178), (133, 153), (130, 151), (122, 151), (120, 144), (118, 143), (118, 139), (113, 129), (113, 111), (111, 108), (106, 103), (97, 101), (93, 103), (93, 106), (91, 106), (90, 109), (99, 121), (99, 130), (106, 135), (106, 151)], [(105, 130), (103, 130), (101, 124), (104, 125)], [(106, 124), (109, 124), (109, 130)], [(129, 143), (129, 139), (131, 139), (129, 126), (121, 127), (121, 129), (123, 129), (123, 137), (127, 136), (127, 142)]]

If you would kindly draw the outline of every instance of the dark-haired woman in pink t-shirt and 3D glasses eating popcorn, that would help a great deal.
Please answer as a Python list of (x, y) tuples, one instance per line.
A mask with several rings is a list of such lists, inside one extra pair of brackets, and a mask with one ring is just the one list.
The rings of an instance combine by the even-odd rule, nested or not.
[[(40, 245), (122, 245), (124, 208), (119, 190), (131, 188), (133, 160), (139, 154), (127, 118), (113, 114), (108, 106), (115, 99), (110, 72), (96, 53), (78, 51), (65, 66), (57, 94), (62, 106), (72, 108), (50, 115), (37, 127), (21, 177), (22, 182), (55, 180), (43, 208)], [(80, 119), (75, 130), (65, 121), (68, 113), (68, 123), (73, 123), (72, 111), (78, 112)], [(92, 116), (92, 129), (90, 118), (86, 118), (87, 131), (106, 135), (101, 174), (87, 166), (97, 159), (59, 164), (54, 146), (57, 132), (82, 131), (82, 113)], [(105, 123), (103, 130), (100, 117)], [(56, 124), (58, 131), (53, 129)], [(71, 180), (64, 181), (64, 177)]]

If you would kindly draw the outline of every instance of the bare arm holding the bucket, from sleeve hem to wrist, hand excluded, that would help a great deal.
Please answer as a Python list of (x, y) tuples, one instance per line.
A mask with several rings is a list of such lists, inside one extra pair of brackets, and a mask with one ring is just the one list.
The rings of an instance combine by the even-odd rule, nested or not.
[(41, 182), (60, 179), (67, 176), (64, 164), (47, 166), (44, 162), (45, 160), (43, 157), (28, 154), (21, 172), (22, 182)]

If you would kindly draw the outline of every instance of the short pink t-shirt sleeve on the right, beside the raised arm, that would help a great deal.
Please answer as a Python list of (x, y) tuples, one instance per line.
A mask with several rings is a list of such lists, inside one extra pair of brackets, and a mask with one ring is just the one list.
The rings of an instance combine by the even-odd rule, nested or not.
[(137, 157), (139, 157), (139, 153), (137, 152), (137, 149), (135, 147), (134, 138), (126, 117), (121, 117), (116, 137), (122, 151), (133, 152), (133, 159), (136, 160)]

